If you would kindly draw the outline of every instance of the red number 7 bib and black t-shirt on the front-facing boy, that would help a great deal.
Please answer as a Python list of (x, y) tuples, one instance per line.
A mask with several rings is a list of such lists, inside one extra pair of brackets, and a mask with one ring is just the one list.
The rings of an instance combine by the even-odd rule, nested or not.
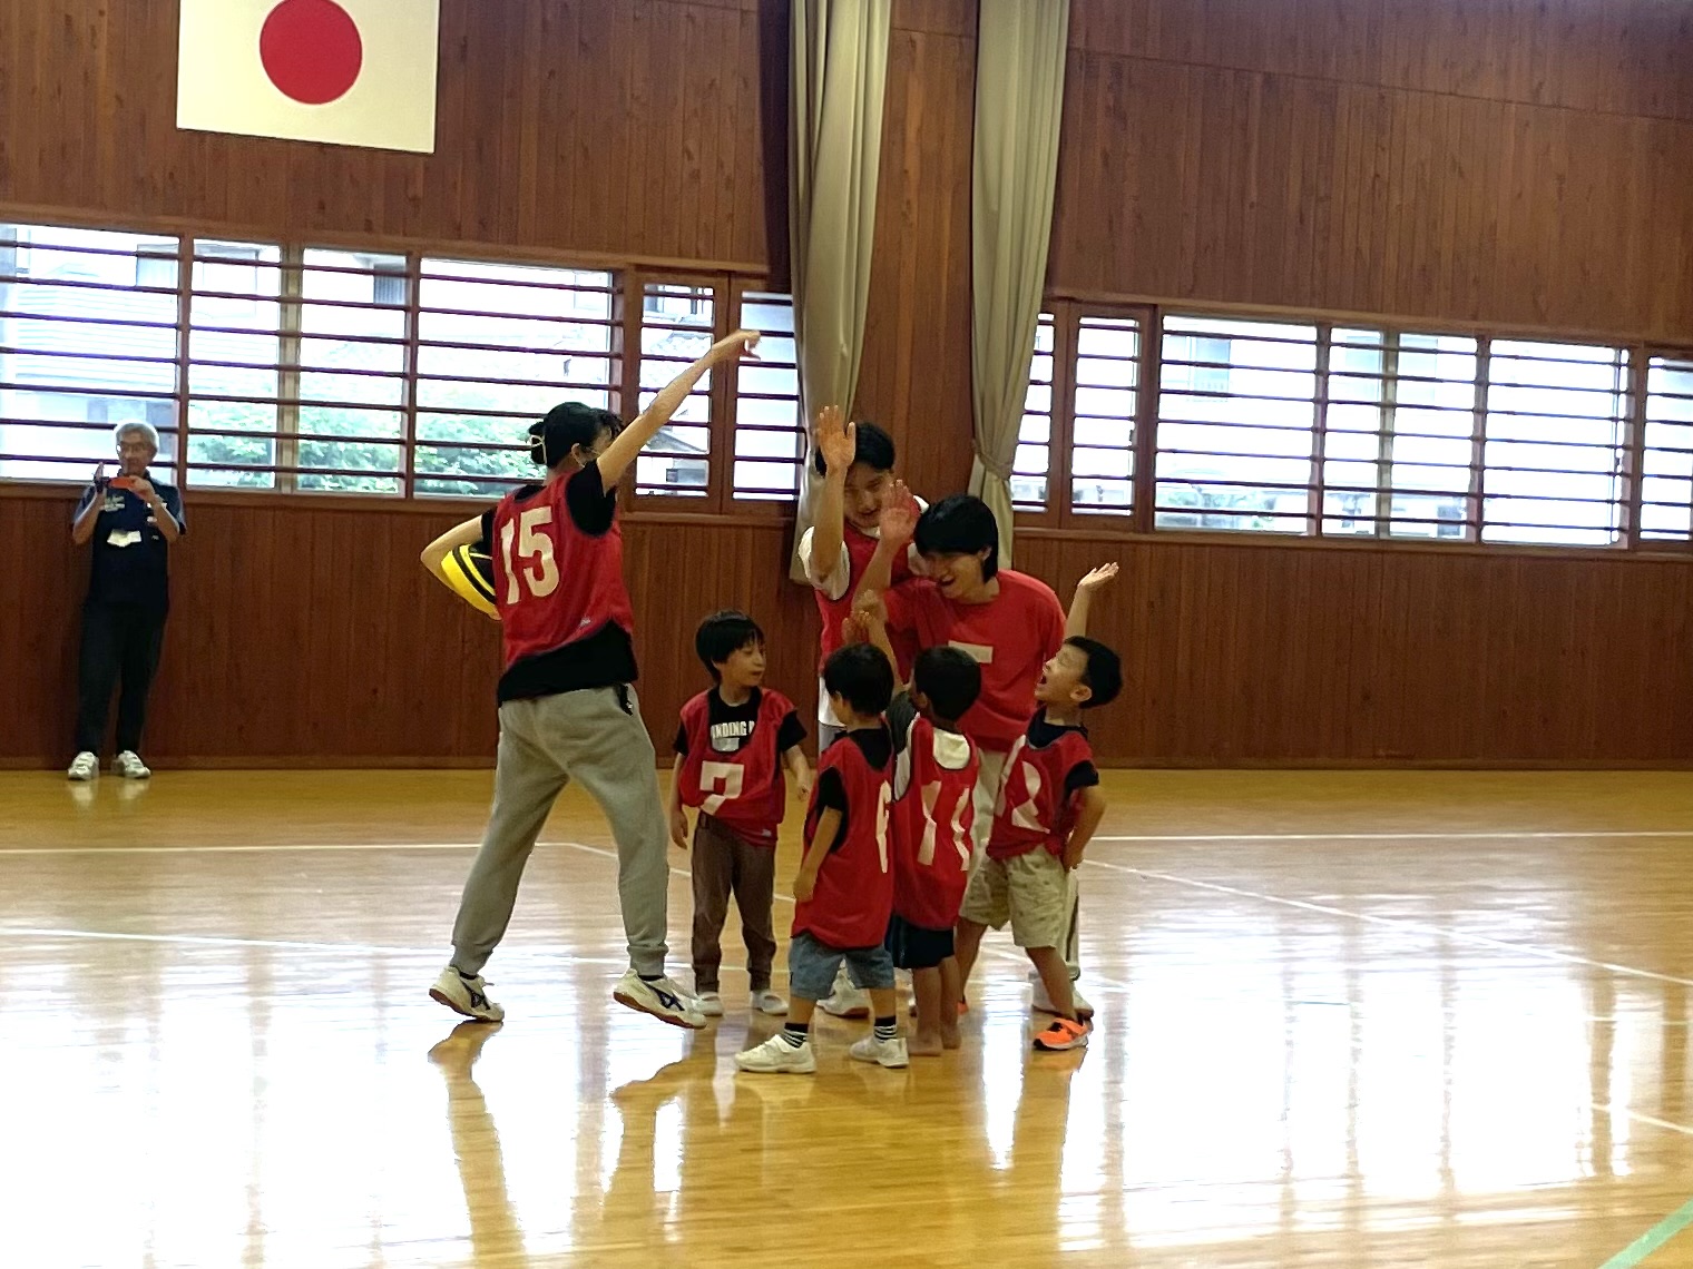
[(742, 707), (725, 704), (716, 689), (701, 692), (682, 706), (677, 734), (682, 805), (699, 807), (755, 846), (775, 846), (787, 810), (782, 753), (804, 738), (794, 702), (780, 692), (755, 690)]

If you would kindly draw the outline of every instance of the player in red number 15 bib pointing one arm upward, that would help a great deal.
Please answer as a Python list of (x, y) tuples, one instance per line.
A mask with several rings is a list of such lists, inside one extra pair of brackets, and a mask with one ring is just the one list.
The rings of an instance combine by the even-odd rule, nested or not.
[[(481, 541), (494, 562), (505, 640), (494, 807), (464, 883), (452, 961), (430, 997), (471, 1019), (498, 1022), (483, 964), (505, 937), (518, 882), (559, 794), (579, 780), (618, 846), (618, 897), (630, 970), (611, 997), (677, 1027), (706, 1025), (692, 997), (665, 976), (670, 866), (659, 763), (631, 684), (635, 616), (623, 582), (618, 481), (713, 365), (750, 354), (736, 332), (664, 387), (626, 428), (604, 409), (565, 403), (530, 426), (542, 484), (513, 491), (423, 550), (442, 562)], [(449, 584), (450, 589), (450, 584)]]

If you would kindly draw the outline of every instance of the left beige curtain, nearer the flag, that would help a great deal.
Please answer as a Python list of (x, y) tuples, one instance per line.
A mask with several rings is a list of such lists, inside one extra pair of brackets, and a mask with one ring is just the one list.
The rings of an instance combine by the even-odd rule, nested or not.
[[(882, 91), (892, 0), (792, 0), (789, 239), (799, 408), (852, 408), (863, 352), (882, 161)], [(816, 477), (799, 486), (799, 536), (811, 526)], [(804, 582), (797, 550), (791, 575)]]

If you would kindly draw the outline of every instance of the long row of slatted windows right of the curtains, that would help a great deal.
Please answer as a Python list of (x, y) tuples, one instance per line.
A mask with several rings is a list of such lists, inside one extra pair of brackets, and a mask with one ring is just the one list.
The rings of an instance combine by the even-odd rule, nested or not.
[[(1141, 347), (1148, 323), (1158, 338)], [(1156, 393), (1138, 442), (1144, 379)], [(1693, 359), (1055, 303), (1012, 472), (1021, 511), (1050, 514), (1048, 477), (1070, 484), (1063, 514), (1143, 531), (1690, 540)]]

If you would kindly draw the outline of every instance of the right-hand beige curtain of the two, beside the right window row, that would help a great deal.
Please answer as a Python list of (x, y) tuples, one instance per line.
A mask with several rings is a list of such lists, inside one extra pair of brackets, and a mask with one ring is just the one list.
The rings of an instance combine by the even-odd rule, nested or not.
[[(970, 492), (999, 518), (1002, 565), (1011, 563), (1011, 465), (1046, 284), (1068, 41), (1070, 0), (980, 0), (970, 203)], [(1050, 494), (1060, 496), (1056, 489)]]

